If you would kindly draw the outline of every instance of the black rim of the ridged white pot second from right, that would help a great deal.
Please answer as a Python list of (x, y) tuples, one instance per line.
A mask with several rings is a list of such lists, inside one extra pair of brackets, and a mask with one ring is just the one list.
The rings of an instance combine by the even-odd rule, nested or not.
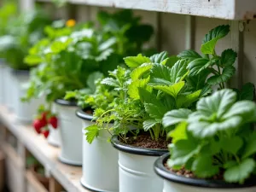
[(144, 156), (160, 156), (168, 152), (167, 149), (133, 147), (131, 145), (121, 143), (118, 139), (118, 136), (113, 136), (111, 138), (111, 143), (114, 148), (117, 148), (118, 150), (128, 154), (138, 154), (138, 155), (144, 155)]

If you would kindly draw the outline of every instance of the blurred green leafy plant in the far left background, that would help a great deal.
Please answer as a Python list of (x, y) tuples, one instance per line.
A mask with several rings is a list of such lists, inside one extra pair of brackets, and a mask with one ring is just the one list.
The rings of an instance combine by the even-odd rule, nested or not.
[(23, 58), (28, 49), (44, 37), (44, 26), (51, 23), (49, 15), (37, 9), (17, 15), (6, 24), (5, 34), (0, 37), (0, 55), (10, 67), (28, 69)]

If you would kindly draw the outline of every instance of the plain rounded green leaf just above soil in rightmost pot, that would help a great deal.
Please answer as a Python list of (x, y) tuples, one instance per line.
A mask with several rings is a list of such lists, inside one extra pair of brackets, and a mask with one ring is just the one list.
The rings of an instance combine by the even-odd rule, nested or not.
[(201, 154), (196, 157), (192, 165), (192, 171), (197, 177), (207, 178), (216, 175), (219, 170), (218, 166), (212, 165), (212, 156)]

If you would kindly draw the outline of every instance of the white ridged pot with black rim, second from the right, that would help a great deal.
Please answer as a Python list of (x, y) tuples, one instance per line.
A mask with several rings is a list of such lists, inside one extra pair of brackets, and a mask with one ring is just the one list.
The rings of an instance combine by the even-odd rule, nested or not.
[(119, 192), (161, 192), (163, 179), (154, 173), (154, 161), (167, 150), (135, 148), (112, 137), (119, 150)]

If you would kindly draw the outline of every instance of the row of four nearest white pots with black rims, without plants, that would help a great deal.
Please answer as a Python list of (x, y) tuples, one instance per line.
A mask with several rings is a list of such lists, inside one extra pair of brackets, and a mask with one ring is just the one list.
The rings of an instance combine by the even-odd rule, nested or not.
[[(164, 166), (169, 157), (166, 150), (134, 148), (119, 142), (118, 137), (112, 137), (111, 146), (107, 142), (111, 137), (108, 131), (100, 131), (93, 143), (87, 143), (84, 127), (95, 123), (92, 115), (77, 110), (74, 103), (61, 100), (56, 103), (61, 120), (59, 159), (78, 165), (73, 160), (79, 160), (79, 154), (83, 154), (80, 162), (83, 165), (81, 184), (84, 188), (101, 192), (256, 191), (255, 178), (254, 182), (238, 185), (177, 176)], [(76, 110), (77, 116), (83, 120), (82, 125), (73, 115)], [(80, 143), (83, 143), (83, 148)]]

